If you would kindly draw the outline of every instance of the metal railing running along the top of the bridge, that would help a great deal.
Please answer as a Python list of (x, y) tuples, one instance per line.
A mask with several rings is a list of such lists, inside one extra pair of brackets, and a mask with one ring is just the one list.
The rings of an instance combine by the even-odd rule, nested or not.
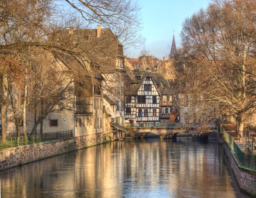
[(216, 128), (216, 123), (131, 123), (131, 128)]

